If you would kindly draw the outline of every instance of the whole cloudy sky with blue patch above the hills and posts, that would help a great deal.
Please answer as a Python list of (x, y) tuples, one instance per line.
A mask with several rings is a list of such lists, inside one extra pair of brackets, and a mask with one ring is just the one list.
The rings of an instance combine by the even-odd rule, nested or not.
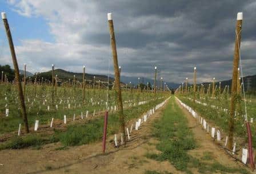
[[(125, 76), (182, 82), (198, 69), (199, 81), (231, 78), (237, 13), (243, 12), (243, 74), (256, 74), (256, 1), (85, 1), (9, 0), (0, 2), (14, 38), (20, 67), (30, 72), (56, 68), (107, 74), (113, 13), (119, 65)], [(0, 64), (11, 64), (0, 24)]]

